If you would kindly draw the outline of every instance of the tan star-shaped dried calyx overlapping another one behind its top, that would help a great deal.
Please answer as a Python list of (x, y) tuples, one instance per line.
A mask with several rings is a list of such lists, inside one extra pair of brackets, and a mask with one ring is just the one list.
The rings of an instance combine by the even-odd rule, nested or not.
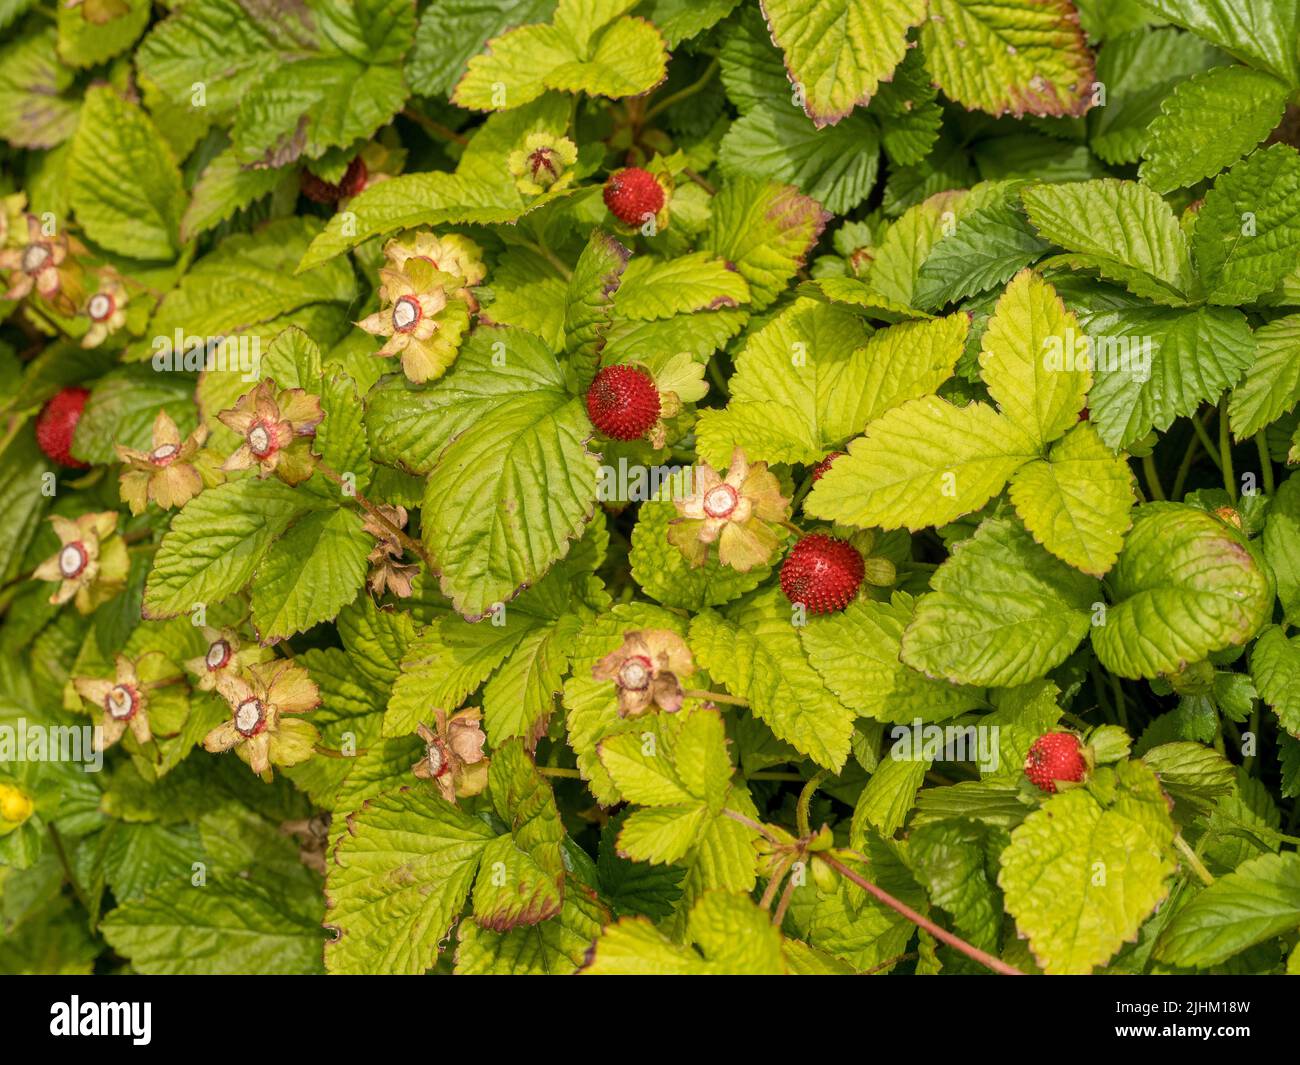
[(412, 256), (400, 270), (380, 270), (387, 306), (356, 322), (367, 333), (387, 339), (374, 354), (402, 356), (402, 372), (415, 384), (446, 373), (469, 329), (469, 304), (448, 298), (451, 274)]

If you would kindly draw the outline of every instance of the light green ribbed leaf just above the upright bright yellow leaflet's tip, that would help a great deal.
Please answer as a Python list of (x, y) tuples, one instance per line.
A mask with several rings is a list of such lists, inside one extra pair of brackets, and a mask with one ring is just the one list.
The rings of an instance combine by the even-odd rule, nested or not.
[(1101, 178), (1035, 185), (1020, 194), (1030, 221), (1069, 252), (1135, 295), (1186, 303), (1192, 291), (1187, 238), (1169, 205), (1145, 185)]

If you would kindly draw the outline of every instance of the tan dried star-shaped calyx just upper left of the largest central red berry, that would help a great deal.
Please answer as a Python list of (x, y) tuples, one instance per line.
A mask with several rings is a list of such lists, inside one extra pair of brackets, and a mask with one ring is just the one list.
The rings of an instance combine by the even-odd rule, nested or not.
[(742, 573), (772, 560), (790, 501), (767, 463), (750, 466), (737, 447), (725, 477), (702, 463), (694, 468), (692, 488), (689, 497), (675, 501), (679, 516), (668, 527), (668, 542), (692, 566), (705, 564), (712, 544), (718, 560)]

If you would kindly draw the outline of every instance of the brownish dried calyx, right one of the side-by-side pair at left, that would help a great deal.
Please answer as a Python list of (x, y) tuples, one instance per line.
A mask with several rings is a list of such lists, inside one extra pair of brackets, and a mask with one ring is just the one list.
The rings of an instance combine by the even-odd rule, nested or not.
[(290, 485), (312, 476), (311, 438), (324, 417), (320, 397), (303, 389), (277, 391), (266, 380), (217, 417), (243, 437), (221, 467), (226, 472), (256, 466), (259, 476), (274, 473)]

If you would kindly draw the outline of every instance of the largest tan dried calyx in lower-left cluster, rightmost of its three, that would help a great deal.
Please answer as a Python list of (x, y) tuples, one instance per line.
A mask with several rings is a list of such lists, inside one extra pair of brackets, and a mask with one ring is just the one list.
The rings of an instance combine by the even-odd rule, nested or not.
[(230, 720), (203, 740), (205, 750), (234, 749), (254, 772), (269, 780), (272, 766), (296, 766), (312, 757), (316, 726), (287, 714), (320, 706), (321, 694), (307, 670), (277, 659), (250, 666), (244, 676), (224, 672), (217, 690), (230, 705)]

